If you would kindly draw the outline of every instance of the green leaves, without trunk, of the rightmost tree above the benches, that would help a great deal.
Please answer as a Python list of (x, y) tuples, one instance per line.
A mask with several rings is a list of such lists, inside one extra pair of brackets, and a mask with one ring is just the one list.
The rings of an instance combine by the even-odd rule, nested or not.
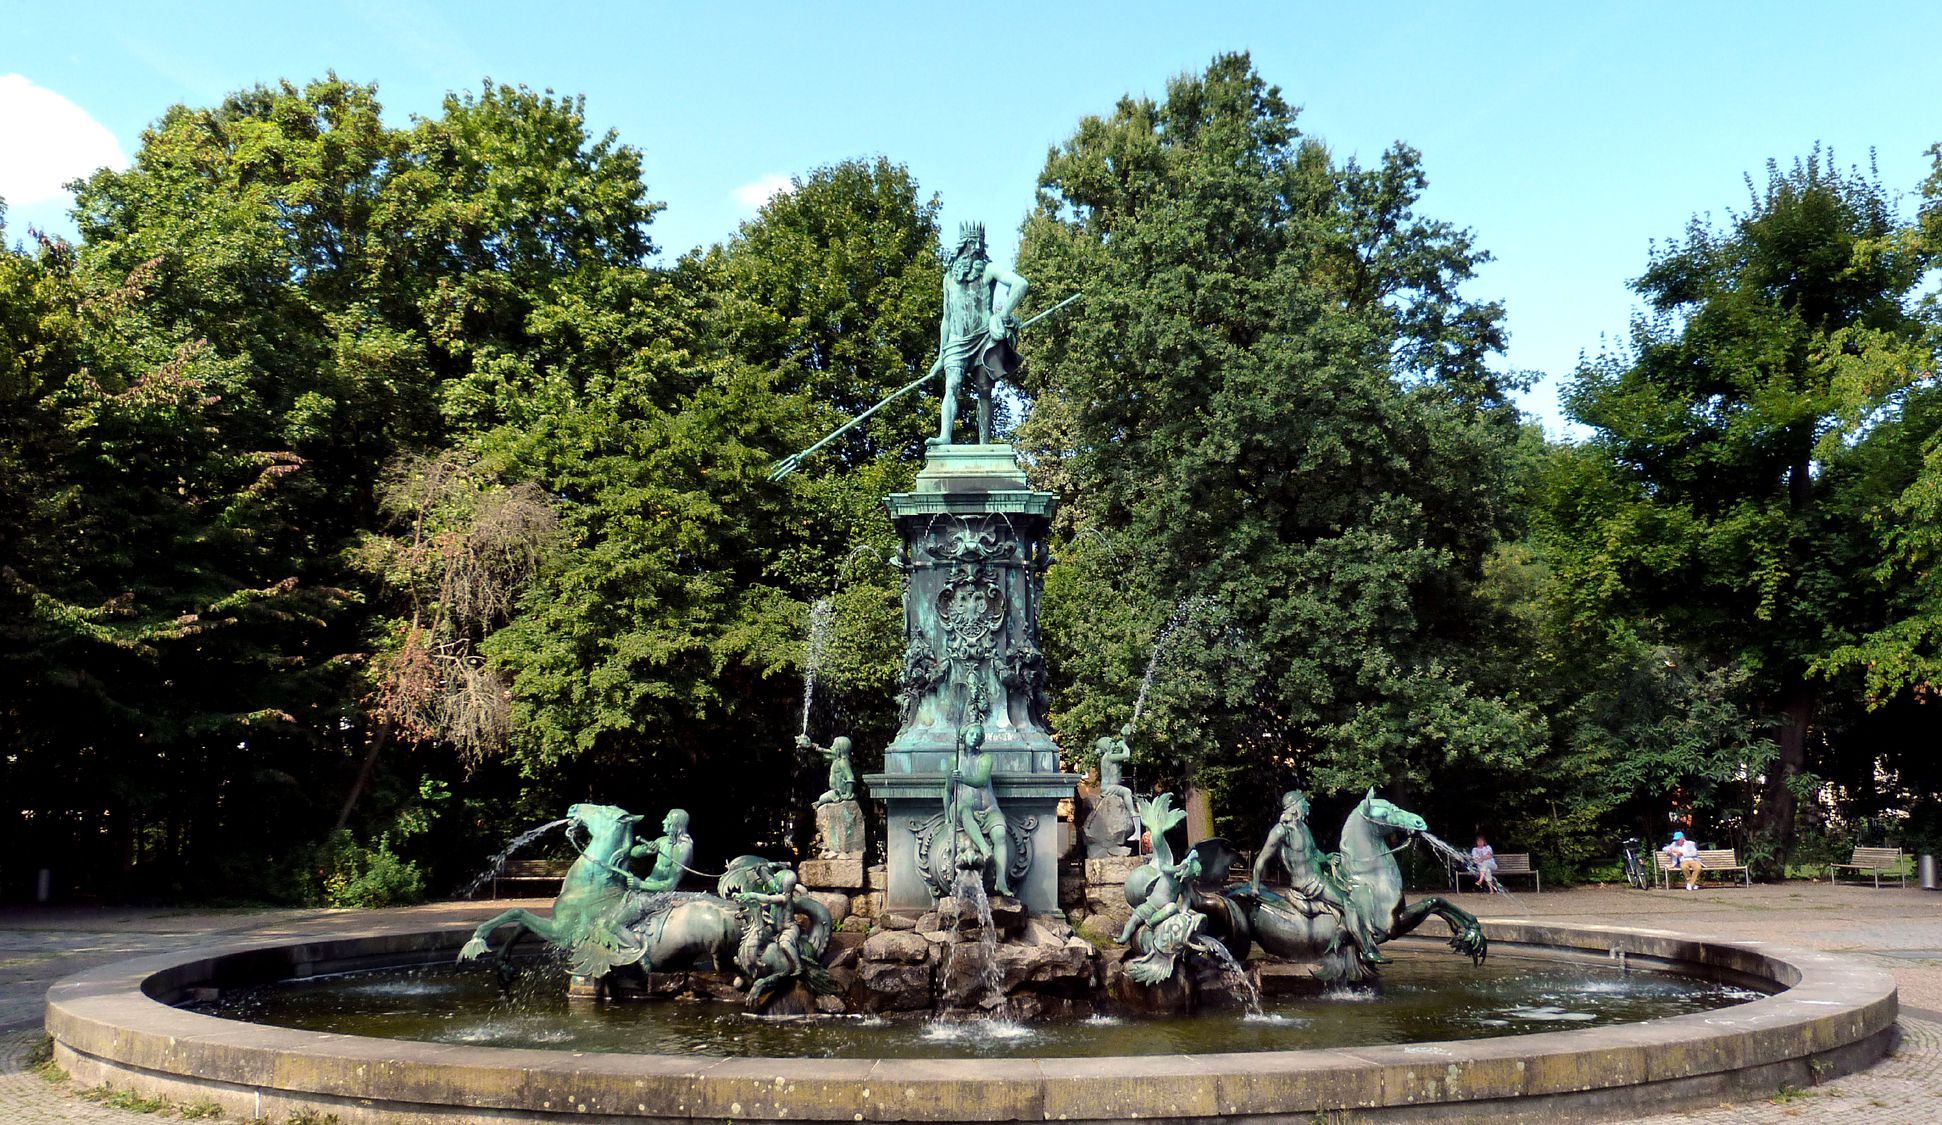
[(1886, 188), (1820, 152), (1769, 165), (1721, 229), (1695, 220), (1639, 278), (1651, 313), (1631, 346), (1569, 387), (1596, 435), (1559, 459), (1544, 499), (1577, 620), (1627, 622), (1738, 678), (1773, 738), (1771, 762), (1719, 738), (1738, 719), (1703, 690), (1680, 729), (1627, 733), (1614, 769), (1643, 785), (1674, 756), (1719, 783), (1738, 758), (1748, 783), (1765, 775), (1752, 812), (1779, 845), (1816, 779), (1866, 783), (1866, 750), (1843, 762), (1827, 740), (1847, 676), (1870, 668), (1876, 699), (1925, 676), (1926, 624), (1909, 612), (1923, 595), (1880, 581), (1923, 534), (1909, 488), (1934, 433), (1911, 307), (1926, 255), (1897, 231)]

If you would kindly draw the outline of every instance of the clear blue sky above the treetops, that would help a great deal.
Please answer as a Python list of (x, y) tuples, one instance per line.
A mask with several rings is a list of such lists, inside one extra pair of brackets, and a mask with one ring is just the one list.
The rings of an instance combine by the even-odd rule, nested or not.
[[(1748, 200), (1816, 142), (1913, 192), (1942, 142), (1942, 4), (52, 4), (0, 2), (0, 185), (136, 150), (177, 101), (336, 70), (386, 113), (491, 76), (585, 93), (645, 153), (672, 256), (730, 235), (765, 183), (903, 161), (1008, 249), (1049, 146), (1122, 93), (1245, 49), (1301, 126), (1363, 161), (1423, 152), (1423, 210), (1495, 255), (1507, 367), (1561, 431), (1556, 383), (1622, 336), (1651, 241)], [(8, 78), (14, 76), (14, 78)], [(58, 99), (49, 99), (58, 95)], [(85, 117), (74, 119), (60, 99)], [(99, 122), (95, 128), (91, 122)], [(80, 167), (76, 167), (80, 165)], [(10, 188), (10, 237), (66, 229)], [(50, 192), (41, 192), (50, 194)]]

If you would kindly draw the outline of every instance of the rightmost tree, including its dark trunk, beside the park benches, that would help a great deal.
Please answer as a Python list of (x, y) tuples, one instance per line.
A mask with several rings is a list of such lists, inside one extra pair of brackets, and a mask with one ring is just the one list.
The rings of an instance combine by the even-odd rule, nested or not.
[(1583, 544), (1573, 581), (1598, 612), (1750, 676), (1777, 727), (1758, 806), (1773, 845), (1814, 783), (1827, 690), (1814, 670), (1880, 616), (1880, 595), (1857, 585), (1874, 486), (1855, 470), (1921, 371), (1907, 363), (1921, 255), (1897, 225), (1880, 183), (1818, 150), (1769, 163), (1744, 214), (1693, 220), (1655, 253), (1629, 348), (1581, 367), (1565, 394), (1612, 472), (1563, 517)]

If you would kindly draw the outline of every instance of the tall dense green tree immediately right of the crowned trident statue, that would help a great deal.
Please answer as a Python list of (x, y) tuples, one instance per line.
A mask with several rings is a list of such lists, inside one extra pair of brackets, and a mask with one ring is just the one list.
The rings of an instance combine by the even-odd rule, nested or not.
[(1540, 742), (1474, 686), (1519, 426), (1501, 309), (1460, 293), (1484, 255), (1423, 187), (1406, 146), (1336, 165), (1245, 54), (1047, 159), (1021, 272), (1086, 301), (1033, 340), (1021, 439), (1086, 532), (1047, 589), (1066, 744), (1126, 717), (1194, 598), (1140, 742), (1204, 779), (1408, 789)]

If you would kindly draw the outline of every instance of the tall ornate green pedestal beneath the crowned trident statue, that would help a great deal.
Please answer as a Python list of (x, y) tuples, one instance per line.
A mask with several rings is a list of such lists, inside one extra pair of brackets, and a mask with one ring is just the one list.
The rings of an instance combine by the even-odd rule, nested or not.
[[(913, 492), (886, 499), (903, 548), (903, 725), (866, 777), (889, 810), (886, 909), (928, 909), (940, 894), (932, 843), (948, 849), (944, 781), (957, 731), (979, 723), (1006, 818), (1012, 890), (1033, 913), (1058, 909), (1058, 769), (1045, 727), (1039, 597), (1056, 497), (1033, 492), (1010, 445), (930, 451)], [(948, 857), (948, 851), (940, 851)], [(988, 880), (987, 880), (988, 882)]]

